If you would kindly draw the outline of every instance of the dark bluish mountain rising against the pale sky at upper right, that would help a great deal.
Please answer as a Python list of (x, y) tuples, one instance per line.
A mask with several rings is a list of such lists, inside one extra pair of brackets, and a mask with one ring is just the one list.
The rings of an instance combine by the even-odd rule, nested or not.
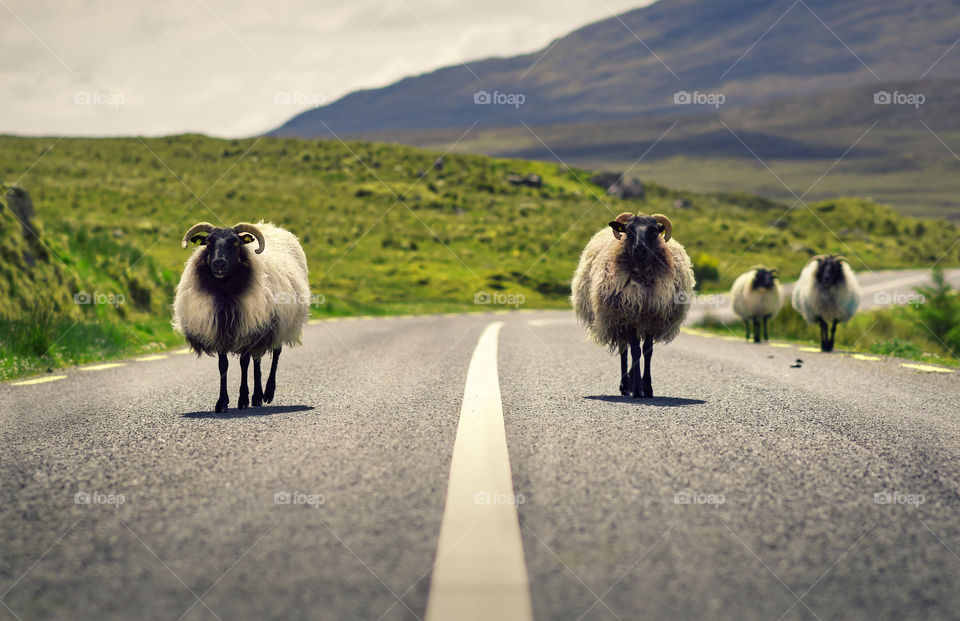
[[(957, 0), (660, 0), (532, 54), (351, 93), (271, 135), (686, 116), (711, 108), (677, 105), (678, 92), (719, 93), (731, 108), (857, 84), (957, 77), (960, 46), (951, 46), (958, 32)], [(503, 103), (474, 103), (477, 93)]]

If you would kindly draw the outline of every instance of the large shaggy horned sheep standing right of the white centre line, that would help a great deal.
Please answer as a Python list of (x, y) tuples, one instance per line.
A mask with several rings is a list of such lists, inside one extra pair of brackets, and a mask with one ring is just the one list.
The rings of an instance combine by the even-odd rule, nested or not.
[(580, 255), (570, 302), (588, 337), (620, 353), (620, 394), (653, 397), (653, 344), (669, 343), (680, 331), (693, 300), (693, 266), (662, 214), (622, 213), (608, 226), (612, 234), (597, 232)]

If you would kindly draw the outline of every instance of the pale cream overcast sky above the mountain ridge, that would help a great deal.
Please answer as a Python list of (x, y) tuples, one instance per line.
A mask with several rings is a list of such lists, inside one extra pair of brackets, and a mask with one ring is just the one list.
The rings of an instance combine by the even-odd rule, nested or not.
[(0, 133), (249, 136), (651, 0), (0, 0)]

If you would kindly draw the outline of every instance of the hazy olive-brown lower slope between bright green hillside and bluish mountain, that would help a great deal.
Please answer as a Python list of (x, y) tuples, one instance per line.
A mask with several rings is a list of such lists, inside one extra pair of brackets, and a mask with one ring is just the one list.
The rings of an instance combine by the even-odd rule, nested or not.
[[(874, 105), (878, 91), (919, 93), (926, 100), (918, 108)], [(960, 80), (955, 79), (871, 81), (754, 105), (731, 99), (719, 111), (703, 107), (689, 116), (675, 110), (532, 131), (478, 127), (459, 142), (459, 128), (356, 137), (441, 149), (456, 142), (458, 152), (544, 161), (559, 157), (586, 168), (632, 167), (642, 178), (695, 192), (741, 191), (792, 202), (787, 188), (798, 195), (812, 188), (810, 201), (871, 197), (905, 215), (960, 221), (960, 163), (954, 155), (960, 151), (958, 97)]]

